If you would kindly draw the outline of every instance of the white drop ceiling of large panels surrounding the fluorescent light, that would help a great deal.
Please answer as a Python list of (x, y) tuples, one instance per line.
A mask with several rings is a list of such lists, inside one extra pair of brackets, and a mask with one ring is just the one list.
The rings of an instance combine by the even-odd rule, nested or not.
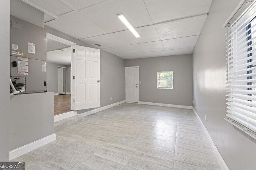
[[(22, 1), (46, 10), (45, 25), (124, 59), (191, 54), (212, 3), (212, 0)], [(118, 19), (118, 14), (126, 16), (141, 35), (139, 38)]]

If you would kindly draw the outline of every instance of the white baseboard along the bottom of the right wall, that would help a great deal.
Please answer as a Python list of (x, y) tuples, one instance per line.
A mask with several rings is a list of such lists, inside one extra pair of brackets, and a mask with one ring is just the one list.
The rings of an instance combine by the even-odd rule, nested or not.
[(204, 134), (206, 135), (206, 138), (208, 139), (208, 142), (210, 143), (211, 147), (212, 147), (212, 150), (214, 152), (214, 155), (216, 157), (216, 159), (218, 160), (218, 163), (220, 164), (220, 167), (222, 170), (229, 170), (228, 169), (228, 166), (226, 165), (225, 161), (223, 160), (222, 156), (220, 155), (220, 152), (218, 151), (218, 149), (216, 148), (214, 142), (212, 141), (212, 138), (211, 136), (209, 135), (207, 129), (204, 127), (204, 124), (202, 122), (202, 120), (200, 119), (200, 117), (198, 116), (198, 114), (196, 113), (196, 110), (194, 109), (193, 107), (193, 111), (196, 115), (196, 118), (198, 119), (203, 131), (204, 131)]

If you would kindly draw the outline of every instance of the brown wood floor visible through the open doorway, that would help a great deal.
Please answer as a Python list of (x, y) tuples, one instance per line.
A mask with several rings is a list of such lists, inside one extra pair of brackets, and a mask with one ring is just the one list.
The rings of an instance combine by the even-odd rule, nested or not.
[(54, 96), (54, 115), (71, 111), (71, 94)]

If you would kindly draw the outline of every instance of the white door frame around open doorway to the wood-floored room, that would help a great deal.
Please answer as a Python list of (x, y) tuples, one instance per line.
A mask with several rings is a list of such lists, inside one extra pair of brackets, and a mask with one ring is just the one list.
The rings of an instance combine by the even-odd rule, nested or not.
[[(62, 43), (62, 44), (66, 44), (66, 45), (69, 45), (71, 46), (71, 52), (72, 52), (72, 55), (71, 55), (71, 75), (74, 76), (74, 66), (73, 66), (73, 49), (75, 49), (75, 46), (76, 46), (76, 43), (72, 42), (72, 41), (69, 41), (67, 39), (64, 39), (64, 38), (61, 38), (61, 37), (58, 37), (56, 35), (53, 35), (53, 34), (50, 34), (50, 33), (46, 33), (46, 38), (47, 39), (51, 39), (51, 40), (54, 40), (54, 41), (57, 41), (59, 43)], [(71, 76), (71, 77), (72, 77)], [(72, 79), (71, 81), (71, 110), (74, 110), (74, 80)], [(64, 113), (63, 113), (64, 114)]]

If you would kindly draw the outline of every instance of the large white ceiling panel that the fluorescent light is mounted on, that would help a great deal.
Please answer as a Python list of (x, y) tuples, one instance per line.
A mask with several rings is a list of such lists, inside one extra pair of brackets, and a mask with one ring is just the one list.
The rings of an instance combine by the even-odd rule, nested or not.
[(49, 21), (46, 25), (82, 39), (126, 30), (127, 27), (118, 19), (117, 14), (124, 14), (134, 27), (151, 23), (141, 1), (111, 0), (80, 10), (79, 13)]

